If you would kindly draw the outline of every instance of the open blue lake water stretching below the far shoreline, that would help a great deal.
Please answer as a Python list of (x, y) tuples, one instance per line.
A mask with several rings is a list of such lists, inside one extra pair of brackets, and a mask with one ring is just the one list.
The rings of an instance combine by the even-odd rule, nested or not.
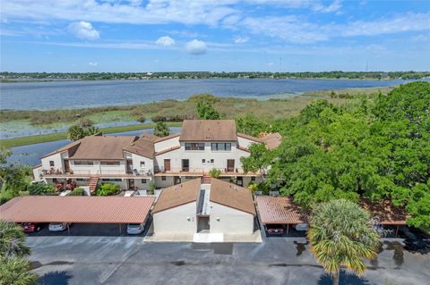
[(342, 88), (391, 86), (407, 80), (112, 80), (0, 83), (0, 109), (58, 109), (184, 100), (197, 93), (268, 98)]

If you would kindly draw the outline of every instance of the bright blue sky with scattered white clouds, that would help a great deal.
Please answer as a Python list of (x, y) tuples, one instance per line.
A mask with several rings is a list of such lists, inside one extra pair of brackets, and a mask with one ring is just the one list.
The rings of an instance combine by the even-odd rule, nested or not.
[(430, 71), (430, 0), (0, 0), (1, 71)]

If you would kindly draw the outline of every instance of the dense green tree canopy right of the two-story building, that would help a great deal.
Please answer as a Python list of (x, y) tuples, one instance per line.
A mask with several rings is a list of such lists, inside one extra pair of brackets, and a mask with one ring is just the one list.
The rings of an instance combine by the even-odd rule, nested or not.
[[(260, 129), (256, 124), (247, 132)], [(280, 131), (280, 147), (251, 151), (243, 163), (255, 169), (270, 160), (267, 182), (282, 195), (306, 207), (338, 198), (391, 198), (407, 205), (409, 224), (430, 229), (430, 83), (341, 106), (316, 100), (271, 130)]]

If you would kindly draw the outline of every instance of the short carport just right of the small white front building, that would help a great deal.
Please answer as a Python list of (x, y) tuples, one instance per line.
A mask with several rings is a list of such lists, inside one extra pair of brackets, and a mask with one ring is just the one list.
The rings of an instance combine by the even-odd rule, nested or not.
[(285, 225), (288, 234), (290, 226), (308, 223), (310, 213), (295, 204), (292, 197), (257, 196), (255, 200), (264, 226)]

